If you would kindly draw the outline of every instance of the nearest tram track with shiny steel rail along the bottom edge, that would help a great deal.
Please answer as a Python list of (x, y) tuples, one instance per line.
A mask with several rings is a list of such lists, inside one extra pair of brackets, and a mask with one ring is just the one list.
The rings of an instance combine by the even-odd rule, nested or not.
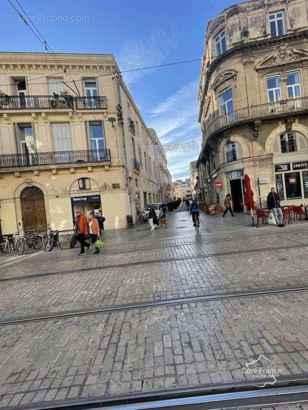
[[(268, 382), (260, 379), (259, 383)], [(235, 381), (202, 386), (178, 387), (141, 393), (99, 396), (73, 400), (32, 403), (19, 410), (214, 410), (262, 407), (308, 401), (308, 374), (281, 376), (266, 388), (252, 381)], [(13, 407), (7, 407), (12, 409)]]

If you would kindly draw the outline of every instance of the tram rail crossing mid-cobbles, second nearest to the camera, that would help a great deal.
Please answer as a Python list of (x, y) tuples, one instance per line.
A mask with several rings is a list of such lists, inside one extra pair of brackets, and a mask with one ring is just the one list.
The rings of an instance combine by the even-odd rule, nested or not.
[(121, 312), (131, 309), (141, 309), (141, 308), (153, 308), (155, 306), (162, 305), (177, 305), (184, 303), (198, 303), (198, 302), (208, 302), (214, 300), (222, 299), (232, 299), (232, 298), (242, 298), (247, 296), (266, 296), (279, 293), (291, 293), (299, 291), (307, 291), (308, 284), (299, 284), (292, 286), (282, 286), (279, 288), (263, 288), (263, 289), (253, 289), (245, 290), (239, 292), (230, 292), (230, 293), (218, 293), (218, 294), (208, 294), (208, 295), (199, 295), (199, 296), (187, 296), (181, 298), (171, 298), (171, 299), (160, 299), (160, 300), (149, 300), (142, 302), (132, 302), (126, 304), (114, 304), (109, 306), (98, 306), (97, 308), (84, 308), (71, 311), (62, 311), (54, 313), (43, 313), (39, 315), (31, 316), (21, 316), (21, 317), (12, 317), (0, 319), (0, 325), (10, 325), (10, 324), (19, 324), (26, 322), (42, 321), (42, 320), (51, 320), (51, 319), (63, 319), (76, 316), (87, 316), (87, 315), (97, 315), (97, 314), (106, 314)]

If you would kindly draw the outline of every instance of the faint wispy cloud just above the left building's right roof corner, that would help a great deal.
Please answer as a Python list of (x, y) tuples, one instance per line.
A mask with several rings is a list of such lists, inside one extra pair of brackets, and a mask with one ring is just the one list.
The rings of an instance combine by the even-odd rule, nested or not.
[[(159, 65), (165, 61), (165, 58), (175, 47), (175, 36), (172, 33), (169, 34), (160, 28), (156, 28), (145, 40), (139, 38), (127, 40), (118, 56), (120, 68), (125, 71)], [(133, 71), (124, 73), (123, 77), (125, 83), (129, 85), (151, 71)]]

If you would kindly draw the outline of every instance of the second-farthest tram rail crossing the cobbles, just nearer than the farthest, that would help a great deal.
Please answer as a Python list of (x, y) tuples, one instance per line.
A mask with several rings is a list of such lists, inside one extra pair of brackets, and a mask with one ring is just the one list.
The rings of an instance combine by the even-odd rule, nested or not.
[[(282, 250), (300, 249), (300, 248), (308, 248), (308, 243), (298, 243), (298, 244), (294, 244), (290, 246), (280, 245), (278, 247), (271, 247), (270, 249), (268, 249), (268, 247), (254, 248), (254, 249), (245, 249), (245, 250), (237, 250), (237, 251), (230, 251), (230, 252), (213, 252), (213, 253), (198, 254), (198, 255), (176, 256), (172, 258), (149, 259), (149, 260), (140, 260), (140, 261), (133, 261), (133, 262), (130, 261), (130, 262), (125, 262), (125, 263), (116, 263), (116, 264), (109, 264), (109, 265), (98, 265), (98, 266), (69, 269), (69, 270), (57, 271), (57, 272), (47, 272), (47, 273), (31, 274), (31, 275), (24, 275), (24, 276), (12, 276), (12, 277), (7, 277), (7, 278), (0, 278), (0, 282), (42, 278), (42, 277), (56, 276), (56, 275), (66, 275), (66, 274), (71, 274), (71, 273), (76, 273), (76, 272), (97, 271), (100, 269), (128, 268), (128, 267), (132, 267), (136, 265), (168, 263), (168, 262), (176, 262), (176, 261), (188, 260), (188, 259), (212, 258), (212, 257), (219, 257), (219, 256), (240, 255), (240, 254), (249, 254), (249, 253), (256, 253), (256, 252), (262, 253), (262, 252), (268, 252), (269, 250), (270, 251), (275, 251), (275, 250), (282, 251)], [(118, 252), (118, 253), (121, 253), (121, 252)]]

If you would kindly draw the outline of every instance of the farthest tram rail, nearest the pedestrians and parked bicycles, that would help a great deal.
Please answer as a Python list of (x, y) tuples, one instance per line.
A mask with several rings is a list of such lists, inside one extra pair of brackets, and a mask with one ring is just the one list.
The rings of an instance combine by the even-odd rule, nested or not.
[[(104, 252), (102, 255), (113, 255), (113, 254), (118, 254), (118, 253), (129, 253), (129, 252), (137, 252), (137, 251), (149, 251), (149, 250), (154, 250), (154, 249), (179, 248), (179, 247), (185, 247), (187, 245), (198, 245), (199, 243), (216, 243), (216, 242), (234, 241), (234, 240), (241, 240), (241, 239), (264, 238), (264, 237), (271, 237), (271, 236), (277, 236), (277, 237), (283, 238), (283, 235), (294, 235), (294, 234), (300, 234), (300, 233), (308, 233), (308, 231), (286, 232), (286, 233), (280, 233), (280, 234), (266, 234), (266, 235), (250, 235), (250, 236), (223, 238), (223, 239), (190, 241), (186, 243), (172, 243), (168, 245), (155, 245), (155, 246), (142, 247), (142, 248), (126, 249), (123, 251), (107, 251), (107, 252)], [(295, 241), (294, 239), (291, 239), (291, 240)], [(146, 242), (147, 241), (144, 241), (144, 243)], [(298, 242), (298, 243), (302, 243), (302, 242)], [(118, 246), (125, 247), (129, 244), (130, 243), (124, 243)], [(66, 249), (64, 249), (64, 251), (66, 251)], [(92, 257), (92, 255), (83, 256), (83, 258), (89, 258), (89, 257)], [(70, 259), (79, 259), (79, 258), (80, 258), (79, 255), (74, 255), (74, 256), (68, 256), (68, 257), (61, 258), (61, 260), (70, 260)], [(36, 263), (55, 262), (55, 261), (59, 261), (59, 258), (53, 258), (53, 259), (48, 259), (48, 260), (34, 260), (34, 261), (12, 263), (12, 264), (10, 264), (8, 261), (8, 263), (5, 265), (5, 268), (20, 267), (21, 265), (25, 265), (25, 264), (33, 265)]]

